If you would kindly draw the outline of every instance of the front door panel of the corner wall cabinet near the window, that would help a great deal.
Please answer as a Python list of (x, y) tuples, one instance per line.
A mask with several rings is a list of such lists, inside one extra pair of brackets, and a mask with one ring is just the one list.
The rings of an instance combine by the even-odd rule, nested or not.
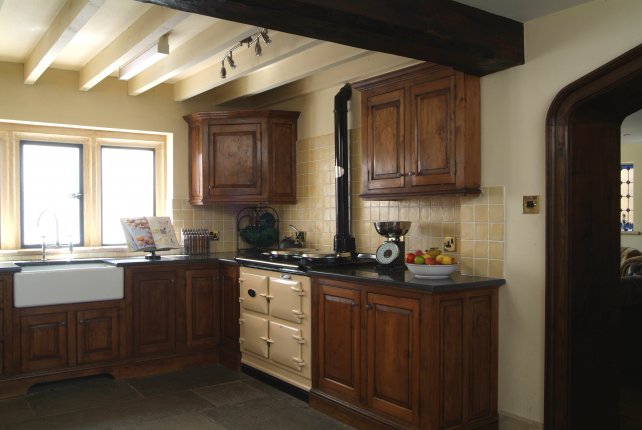
[(260, 195), (261, 124), (211, 125), (206, 195)]

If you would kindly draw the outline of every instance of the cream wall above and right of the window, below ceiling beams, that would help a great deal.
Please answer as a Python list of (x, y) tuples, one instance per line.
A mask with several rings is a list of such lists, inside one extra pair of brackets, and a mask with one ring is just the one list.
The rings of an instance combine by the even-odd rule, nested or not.
[(107, 78), (91, 91), (78, 90), (78, 74), (48, 70), (34, 84), (23, 84), (20, 64), (0, 63), (0, 119), (81, 127), (168, 133), (168, 199), (188, 196), (187, 124), (182, 116), (208, 110), (204, 102), (174, 102), (172, 87), (161, 85), (140, 96), (127, 94), (127, 83)]

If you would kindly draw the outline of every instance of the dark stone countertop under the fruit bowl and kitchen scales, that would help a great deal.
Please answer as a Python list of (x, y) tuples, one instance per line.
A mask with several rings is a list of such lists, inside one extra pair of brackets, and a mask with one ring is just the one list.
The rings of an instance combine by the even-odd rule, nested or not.
[(506, 280), (501, 278), (467, 276), (459, 272), (455, 272), (445, 279), (420, 279), (415, 278), (405, 267), (396, 270), (379, 269), (377, 266), (329, 267), (310, 270), (308, 275), (428, 292), (499, 287), (506, 283)]

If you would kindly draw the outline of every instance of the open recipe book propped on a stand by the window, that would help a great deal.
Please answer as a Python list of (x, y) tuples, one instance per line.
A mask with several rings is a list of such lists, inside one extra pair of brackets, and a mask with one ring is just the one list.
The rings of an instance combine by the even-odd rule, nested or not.
[(163, 251), (180, 248), (172, 220), (166, 216), (121, 218), (127, 245), (132, 251)]

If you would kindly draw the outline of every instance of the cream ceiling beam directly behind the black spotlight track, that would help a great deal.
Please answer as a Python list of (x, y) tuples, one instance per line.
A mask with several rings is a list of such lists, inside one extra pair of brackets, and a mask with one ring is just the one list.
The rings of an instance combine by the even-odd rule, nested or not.
[[(263, 55), (260, 57), (254, 54), (254, 45), (251, 48), (242, 47), (234, 51), (236, 69), (226, 66), (227, 78), (220, 75), (221, 63), (215, 65), (174, 84), (174, 100), (183, 101), (190, 97), (209, 91), (212, 88), (227, 84), (235, 79), (253, 73), (263, 67), (276, 64), (290, 55), (313, 48), (322, 44), (320, 40), (308, 39), (287, 33), (270, 33), (272, 43), (263, 48)], [(228, 47), (228, 49), (231, 48)], [(223, 51), (220, 55), (225, 53)], [(227, 64), (227, 63), (226, 63)]]

